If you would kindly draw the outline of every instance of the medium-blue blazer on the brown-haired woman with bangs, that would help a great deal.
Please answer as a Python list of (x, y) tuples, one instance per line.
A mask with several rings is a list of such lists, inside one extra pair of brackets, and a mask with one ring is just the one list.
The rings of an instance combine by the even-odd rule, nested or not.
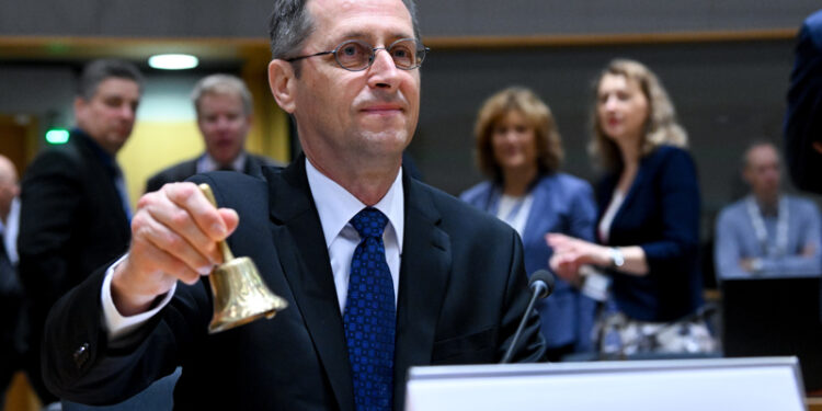
[[(548, 232), (560, 232), (594, 241), (596, 204), (591, 184), (564, 173), (540, 176), (530, 187), (534, 203), (523, 232), (525, 270), (534, 274), (548, 269), (553, 250), (545, 241)], [(468, 204), (496, 215), (502, 190), (490, 181), (477, 184), (460, 195)], [(557, 278), (550, 298), (536, 306), (543, 320), (543, 336), (548, 347), (573, 344), (579, 352), (592, 351), (591, 330), (596, 302), (571, 284)]]

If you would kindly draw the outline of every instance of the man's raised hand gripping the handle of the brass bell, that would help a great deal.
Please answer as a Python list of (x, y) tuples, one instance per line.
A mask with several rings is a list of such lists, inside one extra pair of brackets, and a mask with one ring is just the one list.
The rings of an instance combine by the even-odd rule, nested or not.
[(193, 183), (165, 184), (144, 195), (132, 219), (128, 256), (114, 271), (112, 298), (123, 316), (147, 311), (178, 279), (194, 284), (222, 262), (217, 242), (239, 221), (217, 209)]

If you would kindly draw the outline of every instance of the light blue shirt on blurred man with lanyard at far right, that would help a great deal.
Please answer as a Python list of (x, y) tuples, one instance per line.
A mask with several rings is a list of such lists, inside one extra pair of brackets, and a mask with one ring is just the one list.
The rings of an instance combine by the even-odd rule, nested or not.
[[(812, 202), (804, 198), (784, 196), (783, 199), (787, 208), (787, 235), (779, 233), (779, 216), (763, 216), (751, 197), (722, 209), (717, 219), (713, 251), (718, 279), (747, 278), (753, 275), (820, 274), (822, 250), (819, 210)], [(751, 206), (753, 210), (750, 209)], [(752, 212), (756, 216), (752, 216)], [(784, 212), (780, 209), (779, 213)], [(756, 217), (763, 221), (765, 236), (757, 235)], [(784, 242), (784, 246), (779, 242)], [(813, 252), (803, 255), (809, 248)], [(740, 265), (742, 259), (758, 259), (761, 266), (755, 272), (745, 271)]]

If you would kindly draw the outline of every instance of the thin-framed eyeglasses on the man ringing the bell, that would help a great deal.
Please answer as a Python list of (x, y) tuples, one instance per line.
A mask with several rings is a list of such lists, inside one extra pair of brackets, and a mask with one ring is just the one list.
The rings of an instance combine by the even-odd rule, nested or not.
[(416, 42), (415, 38), (400, 38), (391, 43), (388, 47), (373, 47), (370, 44), (358, 39), (349, 39), (340, 43), (331, 52), (320, 52), (308, 56), (286, 58), (288, 62), (301, 60), (304, 58), (334, 55), (334, 60), (340, 67), (349, 71), (362, 71), (372, 67), (377, 50), (386, 50), (393, 59), (393, 65), (401, 70), (412, 70), (422, 66), (425, 53), (430, 48)]

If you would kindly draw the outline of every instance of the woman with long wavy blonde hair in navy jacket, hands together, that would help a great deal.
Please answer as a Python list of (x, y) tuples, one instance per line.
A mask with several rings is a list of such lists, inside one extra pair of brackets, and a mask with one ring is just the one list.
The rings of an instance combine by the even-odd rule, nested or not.
[(609, 309), (598, 322), (602, 352), (711, 351), (706, 322), (695, 316), (703, 305), (699, 186), (685, 130), (657, 76), (640, 62), (612, 61), (595, 93), (591, 150), (606, 172), (597, 187), (597, 242), (548, 235), (550, 265), (570, 282), (609, 282)]

